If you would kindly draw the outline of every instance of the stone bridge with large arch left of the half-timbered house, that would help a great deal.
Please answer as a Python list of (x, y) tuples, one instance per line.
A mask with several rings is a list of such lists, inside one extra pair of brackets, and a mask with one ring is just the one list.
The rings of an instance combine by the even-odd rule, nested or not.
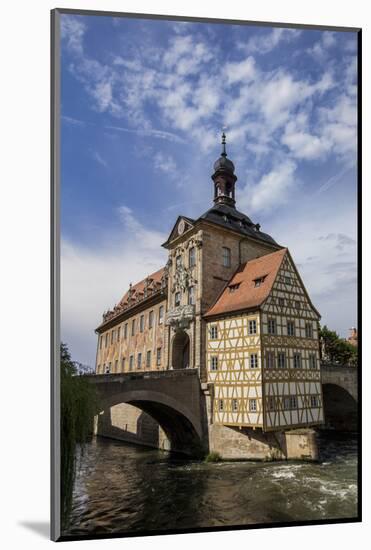
[[(113, 407), (129, 404), (160, 425), (169, 450), (192, 455), (208, 451), (206, 404), (197, 369), (89, 375), (87, 378), (95, 385), (99, 398), (96, 433), (100, 433), (103, 424), (107, 431), (107, 419), (109, 422)], [(112, 426), (110, 428), (113, 433)], [(122, 429), (121, 432), (125, 439)], [(120, 438), (120, 434), (115, 435)]]

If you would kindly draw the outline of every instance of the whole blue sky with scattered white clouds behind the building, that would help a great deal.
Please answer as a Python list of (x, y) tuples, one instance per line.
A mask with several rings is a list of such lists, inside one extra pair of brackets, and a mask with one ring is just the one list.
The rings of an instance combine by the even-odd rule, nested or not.
[(220, 133), (237, 207), (288, 246), (322, 322), (356, 324), (353, 32), (62, 15), (62, 339), (161, 267), (212, 203)]

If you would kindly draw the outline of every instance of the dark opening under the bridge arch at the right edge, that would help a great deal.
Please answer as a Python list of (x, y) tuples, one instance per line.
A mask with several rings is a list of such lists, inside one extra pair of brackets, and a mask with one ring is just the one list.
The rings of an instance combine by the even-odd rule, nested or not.
[(357, 401), (349, 389), (340, 384), (323, 383), (322, 393), (326, 427), (357, 430)]

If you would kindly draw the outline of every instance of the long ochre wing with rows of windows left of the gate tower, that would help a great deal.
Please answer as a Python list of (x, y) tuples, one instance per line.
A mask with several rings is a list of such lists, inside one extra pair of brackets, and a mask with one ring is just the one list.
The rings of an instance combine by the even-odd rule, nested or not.
[(160, 269), (130, 285), (96, 329), (96, 373), (166, 368), (167, 274)]

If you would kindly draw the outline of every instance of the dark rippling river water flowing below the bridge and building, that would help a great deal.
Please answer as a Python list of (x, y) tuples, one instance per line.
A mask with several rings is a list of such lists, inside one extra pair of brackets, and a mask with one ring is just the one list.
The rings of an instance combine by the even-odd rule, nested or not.
[(356, 435), (322, 432), (319, 443), (318, 463), (204, 463), (93, 439), (65, 535), (356, 517)]

